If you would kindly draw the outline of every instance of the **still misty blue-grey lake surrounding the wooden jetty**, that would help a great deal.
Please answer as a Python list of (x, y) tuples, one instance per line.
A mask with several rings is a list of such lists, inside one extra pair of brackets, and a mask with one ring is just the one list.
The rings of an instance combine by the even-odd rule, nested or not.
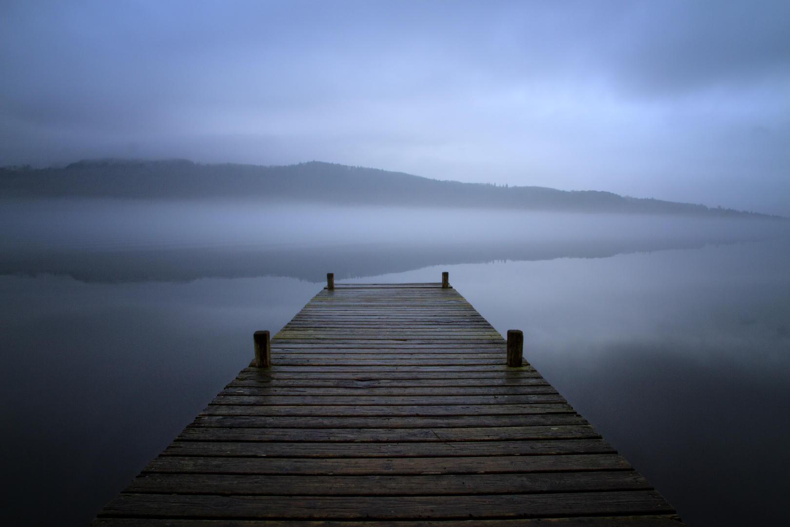
[(0, 200), (2, 517), (86, 525), (339, 281), (450, 283), (688, 525), (788, 525), (790, 224)]

